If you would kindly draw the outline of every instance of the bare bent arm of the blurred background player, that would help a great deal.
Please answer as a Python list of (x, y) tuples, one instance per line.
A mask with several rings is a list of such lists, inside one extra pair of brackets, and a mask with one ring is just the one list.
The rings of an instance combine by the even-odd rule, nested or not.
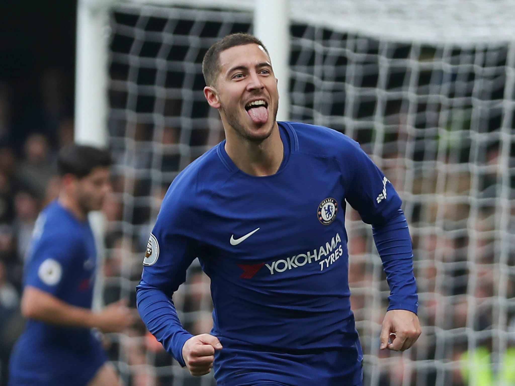
[(112, 303), (100, 312), (76, 307), (39, 288), (26, 286), (21, 302), (25, 318), (41, 322), (83, 328), (98, 328), (102, 332), (123, 331), (132, 323), (126, 300)]

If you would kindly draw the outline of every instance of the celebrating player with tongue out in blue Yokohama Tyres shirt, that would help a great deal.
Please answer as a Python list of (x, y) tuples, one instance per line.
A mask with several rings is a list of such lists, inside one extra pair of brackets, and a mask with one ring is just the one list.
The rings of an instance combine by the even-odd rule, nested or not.
[[(202, 71), (226, 141), (168, 189), (143, 262), (141, 317), (193, 375), (214, 365), (218, 386), (361, 385), (345, 201), (372, 224), (387, 274), (381, 348), (405, 350), (421, 329), (399, 196), (349, 137), (276, 121), (277, 79), (258, 39), (222, 39)], [(195, 258), (214, 303), (211, 334), (198, 336), (183, 329), (171, 301)]]

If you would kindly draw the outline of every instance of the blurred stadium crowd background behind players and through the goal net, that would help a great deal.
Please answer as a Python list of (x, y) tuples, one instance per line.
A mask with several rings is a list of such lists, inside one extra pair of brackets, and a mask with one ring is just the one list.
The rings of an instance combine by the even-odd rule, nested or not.
[[(0, 7), (5, 384), (5, 364), (22, 325), (24, 254), (39, 209), (56, 194), (56, 152), (73, 141), (77, 4)], [(467, 19), (459, 16), (456, 24)], [(499, 24), (497, 16), (490, 15), (491, 24)], [(120, 296), (134, 302), (148, 232), (167, 186), (223, 137), (201, 93), (203, 52), (218, 37), (251, 28), (252, 14), (234, 9), (118, 5), (110, 12), (106, 92), (116, 166), (104, 210), (106, 303)], [(388, 289), (368, 226), (348, 213), (365, 384), (515, 384), (513, 38), (428, 42), (295, 20), (290, 30), (291, 119), (330, 126), (361, 143), (400, 192), (413, 237), (424, 332), (406, 353), (380, 352)], [(174, 300), (187, 329), (209, 331), (209, 279), (198, 266)], [(188, 376), (141, 324), (107, 338), (110, 358), (128, 384), (214, 384)]]

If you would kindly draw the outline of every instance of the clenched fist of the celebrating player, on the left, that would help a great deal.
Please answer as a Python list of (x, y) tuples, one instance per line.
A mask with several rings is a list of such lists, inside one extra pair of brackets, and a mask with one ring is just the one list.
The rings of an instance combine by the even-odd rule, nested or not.
[(205, 375), (211, 371), (215, 360), (215, 350), (222, 345), (217, 337), (200, 334), (188, 339), (182, 346), (182, 359), (192, 375)]

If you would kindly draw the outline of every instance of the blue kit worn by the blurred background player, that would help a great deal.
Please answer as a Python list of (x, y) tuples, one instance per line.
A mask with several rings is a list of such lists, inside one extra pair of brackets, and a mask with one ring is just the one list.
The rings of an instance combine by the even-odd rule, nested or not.
[[(24, 286), (91, 308), (95, 274), (96, 247), (89, 222), (79, 221), (57, 200), (50, 203), (36, 221)], [(106, 359), (92, 330), (29, 319), (11, 356), (10, 384), (85, 385)]]

